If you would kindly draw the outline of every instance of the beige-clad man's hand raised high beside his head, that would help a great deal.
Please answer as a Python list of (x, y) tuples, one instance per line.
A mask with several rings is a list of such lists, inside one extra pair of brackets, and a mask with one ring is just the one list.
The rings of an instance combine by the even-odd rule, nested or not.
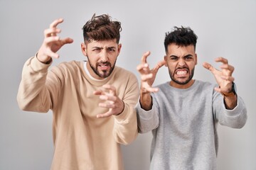
[(50, 24), (50, 28), (44, 30), (44, 40), (40, 49), (38, 50), (37, 58), (39, 61), (46, 63), (50, 58), (58, 58), (59, 55), (56, 53), (65, 44), (72, 43), (73, 39), (64, 38), (60, 39), (58, 33), (60, 29), (57, 28), (59, 23), (63, 22), (63, 18), (59, 18)]

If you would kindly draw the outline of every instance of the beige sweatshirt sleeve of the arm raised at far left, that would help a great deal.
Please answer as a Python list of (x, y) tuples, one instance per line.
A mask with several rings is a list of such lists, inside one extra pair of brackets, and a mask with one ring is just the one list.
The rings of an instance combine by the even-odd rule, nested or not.
[(17, 94), (18, 106), (23, 111), (46, 113), (52, 108), (51, 96), (58, 93), (55, 88), (58, 83), (55, 82), (54, 86), (46, 83), (50, 64), (43, 64), (36, 57), (31, 57), (24, 64)]

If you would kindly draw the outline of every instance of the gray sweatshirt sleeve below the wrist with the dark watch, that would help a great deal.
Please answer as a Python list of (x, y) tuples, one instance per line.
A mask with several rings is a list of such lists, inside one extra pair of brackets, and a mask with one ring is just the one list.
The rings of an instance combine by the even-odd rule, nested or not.
[(238, 96), (237, 106), (233, 110), (228, 110), (225, 108), (223, 96), (219, 93), (216, 94), (215, 100), (213, 100), (213, 110), (215, 118), (220, 125), (230, 128), (242, 128), (247, 121), (247, 109), (240, 96)]

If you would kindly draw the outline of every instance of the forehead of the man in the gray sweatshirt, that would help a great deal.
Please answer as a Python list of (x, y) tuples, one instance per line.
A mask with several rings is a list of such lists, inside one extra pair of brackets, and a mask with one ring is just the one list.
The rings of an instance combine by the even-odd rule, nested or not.
[(195, 47), (193, 45), (187, 46), (179, 46), (176, 44), (170, 44), (167, 47), (168, 53), (167, 55), (188, 55), (188, 54), (195, 54)]

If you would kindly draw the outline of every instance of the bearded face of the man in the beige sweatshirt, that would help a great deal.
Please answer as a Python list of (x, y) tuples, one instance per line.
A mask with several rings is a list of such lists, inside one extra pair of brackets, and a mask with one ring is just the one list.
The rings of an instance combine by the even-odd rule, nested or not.
[(95, 79), (109, 77), (114, 69), (122, 45), (117, 40), (92, 40), (81, 44), (82, 53), (87, 57), (87, 69)]

